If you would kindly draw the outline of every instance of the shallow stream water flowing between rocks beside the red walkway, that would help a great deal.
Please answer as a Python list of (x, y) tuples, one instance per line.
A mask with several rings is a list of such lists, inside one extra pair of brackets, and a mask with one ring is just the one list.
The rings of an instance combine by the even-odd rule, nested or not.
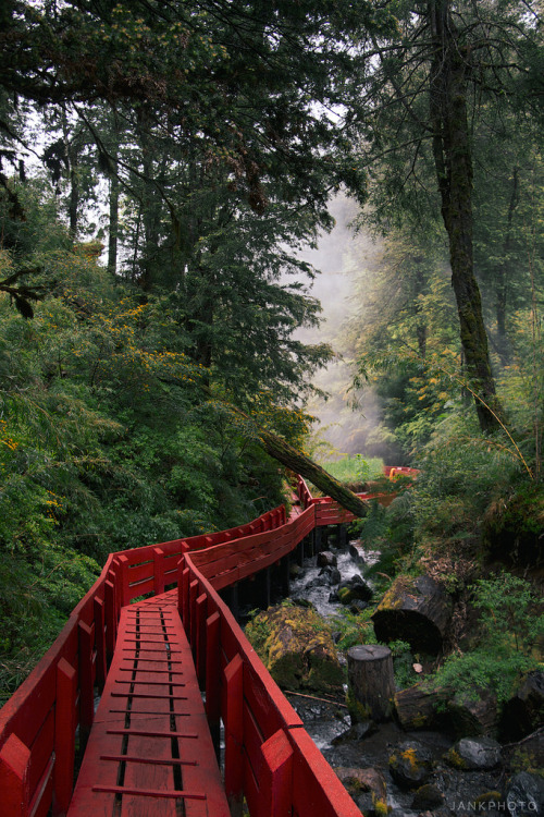
[[(327, 550), (336, 556), (342, 581), (357, 573), (364, 577), (364, 569), (373, 564), (379, 557), (375, 552), (362, 553), (363, 562), (361, 562), (355, 561), (349, 549), (338, 550), (329, 545)], [(317, 557), (305, 559), (300, 577), (292, 583), (290, 597), (295, 600), (310, 601), (320, 615), (331, 621), (334, 630), (334, 618), (341, 614), (343, 606), (329, 600), (331, 590), (334, 588), (329, 584), (319, 586), (320, 570), (317, 566)], [(366, 578), (366, 581), (371, 584), (369, 580)], [(388, 770), (390, 755), (399, 743), (407, 740), (417, 741), (431, 753), (435, 766), (428, 782), (436, 786), (444, 797), (441, 808), (435, 808), (433, 812), (425, 810), (425, 815), (453, 814), (456, 817), (462, 817), (465, 814), (474, 814), (479, 810), (478, 804), (474, 803), (478, 796), (504, 788), (504, 771), (500, 767), (487, 772), (472, 772), (458, 771), (444, 763), (443, 755), (455, 743), (453, 734), (435, 731), (406, 732), (395, 721), (390, 721), (380, 724), (373, 733), (357, 740), (346, 735), (351, 725), (347, 708), (339, 704), (301, 695), (287, 694), (287, 697), (304, 720), (307, 732), (333, 768), (372, 768), (383, 775), (387, 786), (387, 806), (392, 817), (423, 813), (420, 808), (411, 807), (413, 792), (399, 789)], [(353, 796), (363, 814), (374, 814), (370, 793), (361, 792)]]

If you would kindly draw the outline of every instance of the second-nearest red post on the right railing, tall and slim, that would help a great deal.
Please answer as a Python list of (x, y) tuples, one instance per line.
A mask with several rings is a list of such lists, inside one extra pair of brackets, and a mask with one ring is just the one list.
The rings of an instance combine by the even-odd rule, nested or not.
[(242, 817), (244, 795), (244, 663), (237, 653), (225, 667), (225, 792), (232, 817)]

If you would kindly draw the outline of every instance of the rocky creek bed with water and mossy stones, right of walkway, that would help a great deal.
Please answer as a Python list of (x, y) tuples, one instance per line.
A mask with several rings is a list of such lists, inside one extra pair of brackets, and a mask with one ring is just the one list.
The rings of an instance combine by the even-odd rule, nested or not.
[[(347, 550), (332, 551), (342, 581), (363, 573), (360, 558), (355, 560)], [(353, 545), (351, 553), (356, 552)], [(375, 553), (363, 556), (367, 564), (376, 558)], [(338, 575), (333, 582), (323, 581), (323, 575), (331, 578), (316, 557), (305, 560), (292, 598), (311, 602), (326, 620), (337, 615), (342, 605), (331, 593)], [(542, 731), (526, 746), (528, 770), (523, 771), (519, 753), (512, 766), (515, 746), (502, 747), (486, 737), (459, 743), (459, 736), (447, 729), (406, 730), (395, 720), (370, 729), (353, 725), (342, 694), (331, 703), (320, 699), (319, 693), (309, 694), (309, 690), (287, 692), (287, 697), (364, 815), (544, 815), (544, 778), (534, 768), (543, 763)]]

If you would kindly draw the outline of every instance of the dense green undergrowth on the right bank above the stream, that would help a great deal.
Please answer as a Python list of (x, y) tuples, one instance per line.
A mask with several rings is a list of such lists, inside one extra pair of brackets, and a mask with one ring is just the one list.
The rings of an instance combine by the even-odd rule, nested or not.
[[(526, 452), (534, 465), (529, 446)], [(387, 508), (372, 503), (354, 525), (380, 551), (367, 571), (378, 600), (396, 577), (428, 574), (454, 601), (437, 658), (390, 645), (397, 683), (420, 681), (412, 664), (425, 660), (432, 687), (469, 696), (487, 690), (502, 705), (527, 672), (544, 666), (544, 486), (503, 438), (482, 437), (461, 413), (435, 429), (415, 464), (418, 478), (399, 481)], [(341, 649), (376, 641), (374, 609), (343, 617)]]

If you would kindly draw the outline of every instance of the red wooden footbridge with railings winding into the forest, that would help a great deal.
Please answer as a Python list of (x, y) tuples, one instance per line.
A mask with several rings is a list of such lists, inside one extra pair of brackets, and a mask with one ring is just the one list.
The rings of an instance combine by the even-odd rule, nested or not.
[(360, 815), (220, 596), (351, 519), (299, 479), (288, 520), (111, 553), (0, 710), (2, 817)]

